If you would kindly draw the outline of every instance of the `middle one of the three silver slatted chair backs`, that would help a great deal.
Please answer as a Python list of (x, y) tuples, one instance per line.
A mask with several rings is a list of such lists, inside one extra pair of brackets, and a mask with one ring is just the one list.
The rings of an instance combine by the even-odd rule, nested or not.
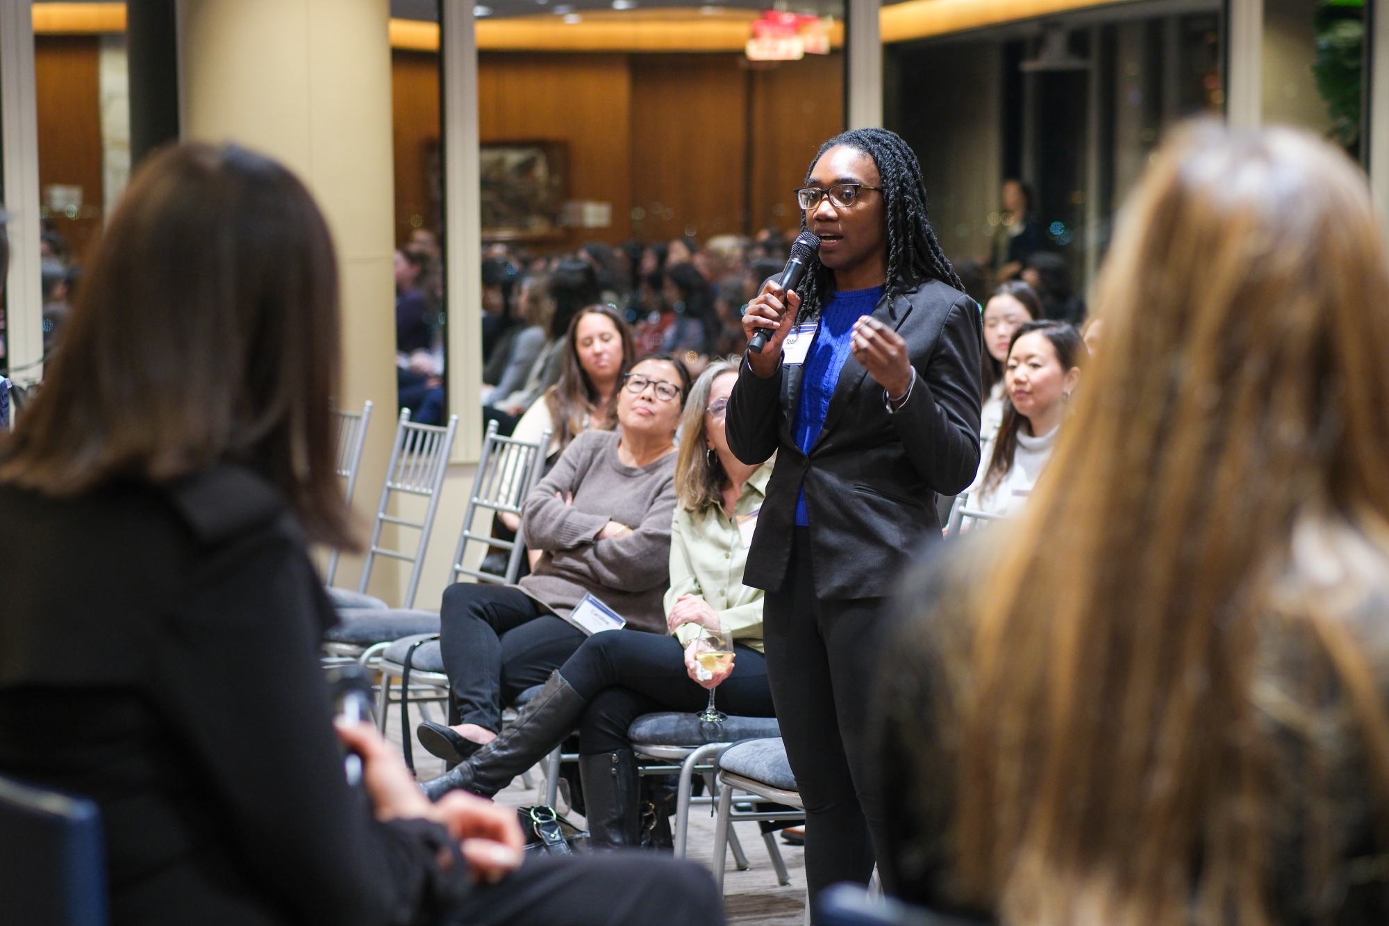
[[(439, 492), (443, 488), (444, 477), (449, 474), (449, 452), (453, 449), (453, 438), (458, 430), (458, 416), (449, 416), (446, 427), (432, 424), (414, 424), (410, 420), (410, 409), (400, 410), (400, 424), (396, 427), (396, 441), (390, 446), (390, 462), (386, 464), (386, 481), (381, 487), (381, 505), (376, 506), (376, 519), (371, 528), (371, 544), (367, 546), (367, 562), (361, 570), (361, 581), (357, 591), (365, 592), (371, 583), (371, 570), (376, 556), (388, 556), (413, 563), (410, 570), (410, 584), (401, 601), (401, 608), (414, 608), (415, 592), (419, 588), (419, 569), (425, 562), (425, 551), (429, 548), (429, 534), (433, 530), (435, 512), (439, 509)], [(425, 519), (410, 521), (393, 517), (386, 513), (390, 507), (392, 492), (419, 495), (428, 499), (425, 505)], [(397, 524), (407, 530), (419, 531), (415, 544), (401, 541), (404, 549), (388, 549), (381, 545), (381, 530), (385, 524)]]

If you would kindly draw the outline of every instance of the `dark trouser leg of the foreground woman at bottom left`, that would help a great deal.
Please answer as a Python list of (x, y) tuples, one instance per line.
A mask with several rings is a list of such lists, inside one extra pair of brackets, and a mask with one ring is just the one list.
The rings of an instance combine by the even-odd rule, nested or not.
[(538, 856), (479, 887), (456, 926), (718, 926), (724, 905), (708, 870), (650, 854)]

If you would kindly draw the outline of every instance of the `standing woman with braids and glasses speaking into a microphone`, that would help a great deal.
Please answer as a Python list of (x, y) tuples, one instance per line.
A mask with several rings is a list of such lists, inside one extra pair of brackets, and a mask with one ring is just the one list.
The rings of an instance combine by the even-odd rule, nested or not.
[(768, 281), (747, 306), (749, 339), (775, 334), (743, 362), (728, 444), (749, 464), (776, 453), (743, 581), (767, 592), (767, 673), (814, 897), (867, 883), (885, 851), (864, 742), (875, 641), (913, 551), (940, 537), (936, 494), (978, 470), (982, 330), (895, 133), (825, 142), (796, 195), (820, 256), (799, 292)]

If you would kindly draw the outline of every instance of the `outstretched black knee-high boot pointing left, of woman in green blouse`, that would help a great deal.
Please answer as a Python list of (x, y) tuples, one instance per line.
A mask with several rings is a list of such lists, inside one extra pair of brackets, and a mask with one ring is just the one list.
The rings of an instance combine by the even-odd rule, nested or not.
[(425, 794), (438, 801), (449, 791), (463, 788), (492, 797), (563, 742), (574, 731), (586, 704), (564, 676), (551, 673), (544, 688), (521, 709), (515, 723), (503, 727), (496, 740), (465, 762), (425, 781)]

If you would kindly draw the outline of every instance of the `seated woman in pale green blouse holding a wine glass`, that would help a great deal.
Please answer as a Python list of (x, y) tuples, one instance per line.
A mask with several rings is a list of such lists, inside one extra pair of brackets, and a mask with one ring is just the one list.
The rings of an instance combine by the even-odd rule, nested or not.
[[(743, 563), (772, 460), (746, 466), (728, 449), (724, 413), (736, 381), (736, 364), (715, 362), (685, 405), (675, 464), (679, 503), (671, 527), (671, 587), (665, 592), (672, 635), (613, 630), (589, 637), (514, 724), (444, 776), (449, 786), (490, 797), (578, 726), (585, 818), (593, 843), (633, 845), (640, 815), (636, 756), (626, 738), (632, 720), (657, 710), (700, 710), (708, 702), (707, 690), (715, 685), (725, 713), (774, 716), (761, 652), (763, 592), (743, 585)], [(701, 680), (707, 673), (694, 656), (707, 648), (710, 630), (732, 635), (735, 656), (729, 669)], [(435, 790), (433, 784), (426, 783), (425, 790)]]

